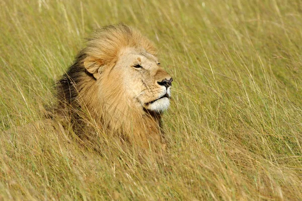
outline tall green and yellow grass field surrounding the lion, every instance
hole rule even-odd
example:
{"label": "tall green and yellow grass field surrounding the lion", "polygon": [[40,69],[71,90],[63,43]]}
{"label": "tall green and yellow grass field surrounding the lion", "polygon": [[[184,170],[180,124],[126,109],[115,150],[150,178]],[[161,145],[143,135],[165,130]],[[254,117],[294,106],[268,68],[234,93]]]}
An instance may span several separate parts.
{"label": "tall green and yellow grass field surrounding the lion", "polygon": [[[301,1],[5,0],[0,11],[0,200],[302,200]],[[84,38],[119,22],[155,41],[174,78],[163,155],[96,152],[42,120]]]}

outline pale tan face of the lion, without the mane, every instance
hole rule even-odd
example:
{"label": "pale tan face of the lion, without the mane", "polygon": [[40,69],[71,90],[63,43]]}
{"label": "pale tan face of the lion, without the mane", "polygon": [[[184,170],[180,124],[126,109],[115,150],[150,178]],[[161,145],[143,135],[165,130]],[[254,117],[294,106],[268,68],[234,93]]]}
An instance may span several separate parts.
{"label": "pale tan face of the lion, without the mane", "polygon": [[130,101],[147,110],[162,112],[170,105],[172,77],[158,59],[144,49],[125,48],[114,67]]}

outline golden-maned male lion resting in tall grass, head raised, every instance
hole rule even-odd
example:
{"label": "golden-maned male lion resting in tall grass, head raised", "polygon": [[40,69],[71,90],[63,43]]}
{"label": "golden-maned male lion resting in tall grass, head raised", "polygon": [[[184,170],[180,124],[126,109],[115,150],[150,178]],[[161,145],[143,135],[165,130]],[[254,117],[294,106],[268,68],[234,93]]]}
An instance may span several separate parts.
{"label": "golden-maned male lion resting in tall grass, head raised", "polygon": [[156,55],[154,43],[125,24],[95,31],[57,81],[58,113],[79,136],[95,125],[123,141],[162,141],[173,79]]}

